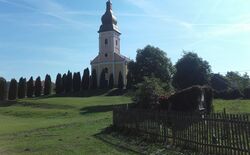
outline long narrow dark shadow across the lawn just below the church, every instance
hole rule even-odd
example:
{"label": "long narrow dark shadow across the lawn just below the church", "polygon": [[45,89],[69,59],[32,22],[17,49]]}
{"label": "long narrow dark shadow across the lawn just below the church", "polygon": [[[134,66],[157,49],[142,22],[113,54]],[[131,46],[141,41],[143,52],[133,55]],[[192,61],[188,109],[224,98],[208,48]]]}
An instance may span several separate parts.
{"label": "long narrow dark shadow across the lawn just below the church", "polygon": [[[127,105],[127,104],[120,104],[120,105]],[[80,114],[91,114],[91,113],[100,113],[100,112],[109,112],[114,109],[117,105],[96,105],[96,106],[90,106],[90,107],[84,107],[80,109]]]}

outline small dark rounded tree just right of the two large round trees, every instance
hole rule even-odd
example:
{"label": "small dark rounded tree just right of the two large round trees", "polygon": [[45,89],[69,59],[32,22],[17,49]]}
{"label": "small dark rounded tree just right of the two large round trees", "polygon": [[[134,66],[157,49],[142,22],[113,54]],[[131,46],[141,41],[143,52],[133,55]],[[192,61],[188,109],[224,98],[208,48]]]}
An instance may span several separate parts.
{"label": "small dark rounded tree just right of the two large round trees", "polygon": [[229,89],[230,82],[223,75],[212,74],[211,87],[216,91],[224,91],[224,90]]}

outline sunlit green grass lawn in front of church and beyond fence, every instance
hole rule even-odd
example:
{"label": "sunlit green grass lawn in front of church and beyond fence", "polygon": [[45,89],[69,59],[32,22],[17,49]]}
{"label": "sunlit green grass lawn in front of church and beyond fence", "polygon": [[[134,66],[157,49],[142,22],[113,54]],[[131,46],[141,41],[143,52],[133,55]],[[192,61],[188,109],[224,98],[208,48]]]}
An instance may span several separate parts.
{"label": "sunlit green grass lawn in front of church and beyond fence", "polygon": [[[137,154],[145,149],[124,137],[102,131],[112,124],[112,106],[130,103],[126,96],[25,99],[0,107],[0,154]],[[249,113],[250,101],[215,101],[215,112]],[[129,141],[129,142],[128,142]],[[134,145],[129,145],[134,144]],[[140,145],[145,145],[140,143]],[[160,150],[161,151],[161,150]],[[160,154],[178,154],[163,151]]]}

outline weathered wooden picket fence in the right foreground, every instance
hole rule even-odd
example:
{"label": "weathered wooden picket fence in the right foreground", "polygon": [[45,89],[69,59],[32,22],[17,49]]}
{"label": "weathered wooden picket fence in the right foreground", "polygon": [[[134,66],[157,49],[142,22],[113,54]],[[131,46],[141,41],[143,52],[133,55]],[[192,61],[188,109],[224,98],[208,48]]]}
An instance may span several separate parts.
{"label": "weathered wooden picket fence in the right foreground", "polygon": [[145,111],[116,107],[113,125],[150,140],[194,149],[203,154],[250,155],[250,115],[211,115]]}

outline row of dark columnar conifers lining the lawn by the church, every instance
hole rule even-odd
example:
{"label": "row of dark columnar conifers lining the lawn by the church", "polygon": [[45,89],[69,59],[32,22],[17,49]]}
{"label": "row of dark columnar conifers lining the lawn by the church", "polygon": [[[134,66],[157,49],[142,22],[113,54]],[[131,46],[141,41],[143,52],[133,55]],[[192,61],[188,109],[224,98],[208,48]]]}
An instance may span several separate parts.
{"label": "row of dark columnar conifers lining the lawn by the church", "polygon": [[[88,89],[98,89],[97,80],[99,80],[99,89],[113,89],[114,86],[114,76],[113,74],[109,75],[109,79],[106,80],[107,71],[104,69],[101,73],[100,79],[97,79],[96,70],[90,71],[86,68],[81,77],[80,72],[72,74],[68,71],[65,74],[57,74],[55,82],[55,93],[63,94],[70,92],[79,92],[82,90]],[[124,88],[124,81],[122,73],[119,73],[118,77],[118,86],[119,89]],[[19,82],[15,79],[12,79],[7,88],[7,82],[4,78],[0,78],[0,100],[15,100],[17,98],[22,99],[25,97],[40,97],[42,95],[50,95],[52,93],[52,82],[50,75],[46,75],[44,80],[44,85],[42,84],[41,77],[38,76],[36,80],[33,80],[31,77],[28,81],[25,78],[21,77]]]}

